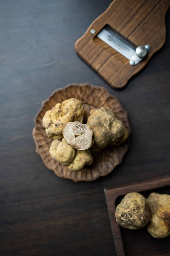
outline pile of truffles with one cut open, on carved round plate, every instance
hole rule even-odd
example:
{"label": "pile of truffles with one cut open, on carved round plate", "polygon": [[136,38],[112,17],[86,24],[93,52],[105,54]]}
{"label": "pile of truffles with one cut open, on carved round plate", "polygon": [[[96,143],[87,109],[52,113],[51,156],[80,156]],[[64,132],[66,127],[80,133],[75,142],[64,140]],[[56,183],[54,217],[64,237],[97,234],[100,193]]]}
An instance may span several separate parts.
{"label": "pile of truffles with one cut open, on carved round plate", "polygon": [[50,155],[73,172],[93,163],[91,153],[98,153],[107,145],[120,145],[128,139],[127,129],[110,108],[91,110],[87,119],[82,102],[75,98],[48,110],[42,125],[47,136],[54,139]]}

